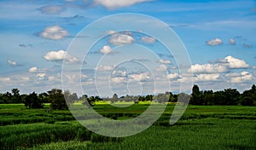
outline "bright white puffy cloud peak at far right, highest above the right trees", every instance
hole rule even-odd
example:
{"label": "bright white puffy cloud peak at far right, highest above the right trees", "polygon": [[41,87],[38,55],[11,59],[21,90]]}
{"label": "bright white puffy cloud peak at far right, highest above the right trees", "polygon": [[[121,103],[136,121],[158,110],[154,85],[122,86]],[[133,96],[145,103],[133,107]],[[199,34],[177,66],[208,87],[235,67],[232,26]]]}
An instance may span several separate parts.
{"label": "bright white puffy cloud peak at far right, highest above the right trees", "polygon": [[234,58],[231,55],[225,57],[225,60],[228,62],[228,66],[230,68],[247,68],[247,67],[249,67],[249,65],[245,61]]}

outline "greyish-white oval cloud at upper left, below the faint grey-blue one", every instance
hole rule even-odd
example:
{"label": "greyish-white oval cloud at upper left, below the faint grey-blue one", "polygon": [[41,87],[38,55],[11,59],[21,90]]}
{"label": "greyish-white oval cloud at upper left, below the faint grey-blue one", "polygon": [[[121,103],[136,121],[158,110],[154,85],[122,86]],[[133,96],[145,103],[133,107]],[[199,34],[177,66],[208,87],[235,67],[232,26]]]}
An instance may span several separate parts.
{"label": "greyish-white oval cloud at upper left, below the faint grey-blue one", "polygon": [[44,32],[39,34],[42,38],[48,39],[62,39],[69,36],[67,30],[63,29],[61,26],[49,26],[44,29]]}

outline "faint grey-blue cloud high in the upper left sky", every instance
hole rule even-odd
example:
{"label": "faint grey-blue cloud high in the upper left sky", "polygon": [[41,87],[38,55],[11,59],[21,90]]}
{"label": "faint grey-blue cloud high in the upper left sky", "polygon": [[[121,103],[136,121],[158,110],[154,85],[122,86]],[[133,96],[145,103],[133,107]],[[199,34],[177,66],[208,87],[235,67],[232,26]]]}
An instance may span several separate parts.
{"label": "faint grey-blue cloud high in the upper left sky", "polygon": [[65,10],[65,7],[62,5],[49,5],[43,6],[38,9],[42,14],[61,14]]}

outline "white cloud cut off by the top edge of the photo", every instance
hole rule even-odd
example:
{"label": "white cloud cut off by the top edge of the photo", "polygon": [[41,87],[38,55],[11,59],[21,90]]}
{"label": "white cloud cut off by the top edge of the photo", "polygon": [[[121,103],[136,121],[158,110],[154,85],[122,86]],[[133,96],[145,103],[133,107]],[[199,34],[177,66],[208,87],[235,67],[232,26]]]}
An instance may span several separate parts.
{"label": "white cloud cut off by the top edge of the photo", "polygon": [[118,1],[113,1],[113,0],[94,0],[96,4],[100,4],[107,9],[117,9],[117,8],[123,8],[127,6],[131,6],[136,3],[143,3],[143,2],[149,2],[152,0],[118,0]]}

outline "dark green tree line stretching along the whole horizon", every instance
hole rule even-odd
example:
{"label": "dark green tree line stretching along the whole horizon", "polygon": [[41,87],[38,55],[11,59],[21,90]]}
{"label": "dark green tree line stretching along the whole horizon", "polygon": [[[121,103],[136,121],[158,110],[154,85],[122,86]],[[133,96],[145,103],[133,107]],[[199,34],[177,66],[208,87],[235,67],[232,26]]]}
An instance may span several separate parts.
{"label": "dark green tree line stretching along the whole horizon", "polygon": [[118,96],[113,94],[112,97],[101,98],[99,96],[78,96],[76,93],[61,89],[51,89],[47,92],[37,94],[20,95],[19,89],[11,89],[11,92],[0,94],[0,103],[24,103],[27,108],[43,108],[44,103],[50,103],[52,109],[67,109],[68,105],[75,101],[83,101],[84,105],[93,107],[96,101],[132,101],[138,103],[140,101],[155,101],[155,102],[177,102],[179,95],[190,96],[189,104],[191,105],[226,105],[226,106],[256,106],[256,86],[253,84],[251,89],[240,93],[237,89],[224,89],[213,92],[212,90],[201,90],[198,85],[192,88],[192,94],[186,95],[172,94],[172,92],[160,93],[158,95],[125,95]]}

